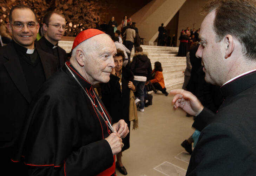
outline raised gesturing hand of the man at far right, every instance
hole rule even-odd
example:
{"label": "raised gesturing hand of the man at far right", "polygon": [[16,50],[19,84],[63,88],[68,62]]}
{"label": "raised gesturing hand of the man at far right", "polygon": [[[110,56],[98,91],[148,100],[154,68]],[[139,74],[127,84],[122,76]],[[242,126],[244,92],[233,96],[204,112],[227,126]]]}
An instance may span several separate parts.
{"label": "raised gesturing hand of the man at far right", "polygon": [[204,106],[191,92],[183,89],[173,89],[170,94],[175,96],[172,99],[172,104],[175,109],[182,108],[185,112],[197,116],[203,110]]}

